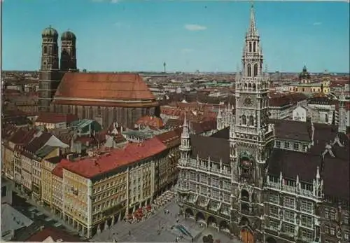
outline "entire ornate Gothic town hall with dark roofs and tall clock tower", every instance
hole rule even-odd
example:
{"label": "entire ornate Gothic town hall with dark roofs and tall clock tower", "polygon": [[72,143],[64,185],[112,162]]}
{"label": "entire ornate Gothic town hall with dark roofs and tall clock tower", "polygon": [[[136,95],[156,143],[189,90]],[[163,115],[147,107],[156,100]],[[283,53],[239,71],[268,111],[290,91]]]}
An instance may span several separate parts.
{"label": "entire ornate Gothic town hall with dark roofs and tall clock tower", "polygon": [[262,62],[252,6],[235,109],[219,111],[211,137],[183,124],[181,210],[244,242],[349,242],[345,119],[337,127],[269,120]]}

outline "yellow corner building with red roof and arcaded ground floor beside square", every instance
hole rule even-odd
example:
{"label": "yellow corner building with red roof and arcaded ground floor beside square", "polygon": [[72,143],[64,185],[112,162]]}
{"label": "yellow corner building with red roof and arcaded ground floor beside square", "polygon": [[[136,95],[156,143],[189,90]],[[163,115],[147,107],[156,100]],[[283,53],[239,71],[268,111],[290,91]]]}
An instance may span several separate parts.
{"label": "yellow corner building with red roof and arcaded ground floor beside square", "polygon": [[[128,144],[110,153],[61,160],[64,221],[85,237],[92,237],[124,218],[125,214],[150,204],[154,156],[166,148],[153,138],[141,144]],[[56,167],[52,174],[59,177],[57,171]],[[55,190],[52,198],[58,198],[58,190],[52,190]]]}

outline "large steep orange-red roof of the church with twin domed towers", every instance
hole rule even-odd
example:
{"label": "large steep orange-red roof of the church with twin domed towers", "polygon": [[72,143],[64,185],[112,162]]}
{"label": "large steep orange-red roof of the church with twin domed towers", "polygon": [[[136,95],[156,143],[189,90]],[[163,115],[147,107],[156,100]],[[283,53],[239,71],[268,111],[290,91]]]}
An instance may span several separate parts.
{"label": "large steep orange-red roof of the church with twin domed towers", "polygon": [[57,98],[145,100],[155,99],[139,74],[66,73]]}

